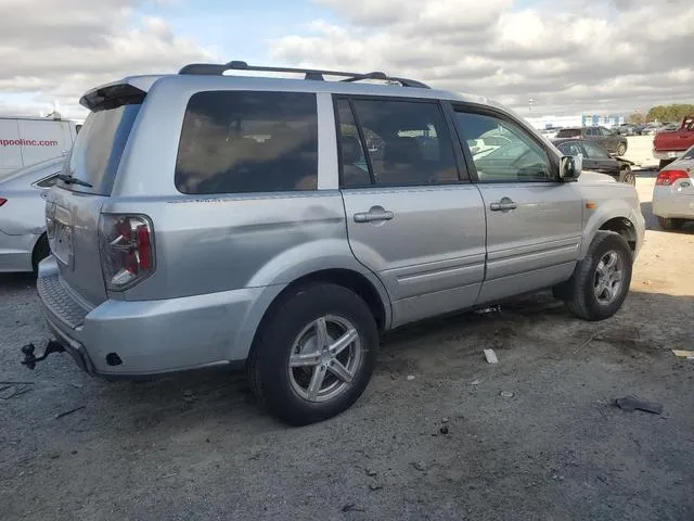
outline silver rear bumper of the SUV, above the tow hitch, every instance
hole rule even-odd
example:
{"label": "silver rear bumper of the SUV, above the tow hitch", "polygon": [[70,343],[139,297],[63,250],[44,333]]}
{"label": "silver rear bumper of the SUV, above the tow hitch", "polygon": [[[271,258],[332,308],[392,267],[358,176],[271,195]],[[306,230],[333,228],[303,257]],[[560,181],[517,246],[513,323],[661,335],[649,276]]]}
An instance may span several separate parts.
{"label": "silver rear bumper of the SUV, above the tow hitch", "polygon": [[80,316],[75,306],[81,305],[70,297],[53,257],[40,264],[37,287],[55,340],[85,371],[110,378],[243,361],[257,326],[249,314],[267,290],[252,288],[165,301],[107,300],[93,309],[82,307]]}

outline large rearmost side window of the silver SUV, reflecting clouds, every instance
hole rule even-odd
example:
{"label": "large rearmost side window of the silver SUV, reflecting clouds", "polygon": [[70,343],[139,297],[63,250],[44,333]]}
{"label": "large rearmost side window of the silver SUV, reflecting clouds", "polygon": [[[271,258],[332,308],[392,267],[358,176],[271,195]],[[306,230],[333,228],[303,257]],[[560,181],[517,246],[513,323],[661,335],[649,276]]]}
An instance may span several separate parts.
{"label": "large rearmost side window of the silver SUV, reflecting clouds", "polygon": [[316,94],[193,94],[183,117],[175,178],[178,190],[190,194],[316,190]]}

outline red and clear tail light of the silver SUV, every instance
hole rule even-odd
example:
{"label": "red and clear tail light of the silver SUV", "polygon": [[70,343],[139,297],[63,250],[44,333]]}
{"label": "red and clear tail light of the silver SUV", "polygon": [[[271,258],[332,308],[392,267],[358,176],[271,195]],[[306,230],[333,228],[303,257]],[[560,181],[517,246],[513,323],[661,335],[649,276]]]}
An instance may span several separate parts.
{"label": "red and clear tail light of the silver SUV", "polygon": [[154,271],[152,221],[144,215],[102,214],[99,250],[106,288],[132,288]]}

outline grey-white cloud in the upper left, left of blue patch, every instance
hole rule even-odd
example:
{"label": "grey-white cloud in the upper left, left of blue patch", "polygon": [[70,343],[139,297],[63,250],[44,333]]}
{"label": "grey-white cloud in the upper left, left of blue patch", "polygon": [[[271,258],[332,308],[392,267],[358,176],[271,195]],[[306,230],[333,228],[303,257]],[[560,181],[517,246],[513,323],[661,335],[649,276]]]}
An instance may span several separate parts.
{"label": "grey-white cloud in the upper left, left of blue patch", "polygon": [[[175,1],[175,0],[157,0]],[[166,73],[210,52],[177,36],[160,18],[139,14],[137,0],[2,0],[0,94],[31,93],[38,110],[59,101],[83,115],[88,89],[131,74]],[[26,111],[0,105],[0,111]]]}

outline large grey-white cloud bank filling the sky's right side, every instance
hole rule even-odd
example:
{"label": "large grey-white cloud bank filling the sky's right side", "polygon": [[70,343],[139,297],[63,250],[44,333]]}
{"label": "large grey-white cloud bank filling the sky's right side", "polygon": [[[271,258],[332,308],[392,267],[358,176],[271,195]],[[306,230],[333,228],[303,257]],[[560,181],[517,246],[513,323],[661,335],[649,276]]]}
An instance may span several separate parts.
{"label": "large grey-white cloud bank filling the sky's right side", "polygon": [[332,23],[271,42],[295,65],[386,71],[527,111],[694,101],[689,0],[314,0]]}

